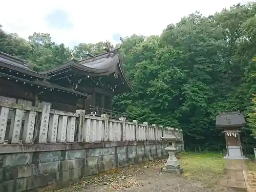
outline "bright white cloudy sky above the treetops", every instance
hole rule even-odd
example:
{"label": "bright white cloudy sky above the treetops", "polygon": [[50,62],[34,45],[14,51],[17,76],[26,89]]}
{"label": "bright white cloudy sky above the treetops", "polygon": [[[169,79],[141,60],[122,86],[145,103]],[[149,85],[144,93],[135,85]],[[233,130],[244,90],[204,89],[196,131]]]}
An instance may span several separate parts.
{"label": "bright white cloudy sky above the treetops", "polygon": [[79,42],[111,41],[135,34],[159,35],[168,24],[200,11],[214,14],[249,0],[8,0],[1,2],[0,24],[27,38],[50,33],[53,41],[73,47]]}

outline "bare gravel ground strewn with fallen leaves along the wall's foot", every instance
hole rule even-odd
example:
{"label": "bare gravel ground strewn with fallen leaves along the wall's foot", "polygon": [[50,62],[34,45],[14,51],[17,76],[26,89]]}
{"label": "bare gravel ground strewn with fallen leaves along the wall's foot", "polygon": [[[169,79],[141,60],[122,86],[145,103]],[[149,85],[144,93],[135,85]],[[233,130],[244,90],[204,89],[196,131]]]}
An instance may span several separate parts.
{"label": "bare gravel ground strewn with fallen leaves along the wall's foot", "polygon": [[150,164],[136,168],[119,170],[118,173],[97,176],[81,181],[76,185],[54,190],[56,192],[98,192],[98,191],[138,191],[138,192],[234,192],[234,190],[220,186],[206,187],[204,184],[187,180],[181,175],[162,173],[160,167],[162,161],[154,161]]}

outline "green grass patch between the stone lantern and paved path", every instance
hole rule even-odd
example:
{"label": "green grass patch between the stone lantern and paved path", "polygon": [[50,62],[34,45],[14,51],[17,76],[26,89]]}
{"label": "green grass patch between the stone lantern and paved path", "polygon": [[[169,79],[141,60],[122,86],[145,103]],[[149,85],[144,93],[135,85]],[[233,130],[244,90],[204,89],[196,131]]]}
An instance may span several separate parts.
{"label": "green grass patch between the stone lantern and paved path", "polygon": [[220,153],[181,153],[179,163],[187,179],[196,179],[208,185],[217,184],[224,174],[225,161]]}

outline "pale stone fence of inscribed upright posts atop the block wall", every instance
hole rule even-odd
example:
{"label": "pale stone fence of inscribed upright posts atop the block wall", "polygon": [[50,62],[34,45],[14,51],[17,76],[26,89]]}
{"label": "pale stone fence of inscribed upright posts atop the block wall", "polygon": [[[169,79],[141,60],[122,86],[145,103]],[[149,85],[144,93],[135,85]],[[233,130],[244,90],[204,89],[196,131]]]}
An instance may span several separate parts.
{"label": "pale stone fence of inscribed upright posts atop the block wall", "polygon": [[[175,134],[183,141],[182,130],[175,129]],[[46,102],[38,107],[0,102],[0,143],[160,141],[164,135],[161,125],[129,122],[126,117],[56,111]]]}

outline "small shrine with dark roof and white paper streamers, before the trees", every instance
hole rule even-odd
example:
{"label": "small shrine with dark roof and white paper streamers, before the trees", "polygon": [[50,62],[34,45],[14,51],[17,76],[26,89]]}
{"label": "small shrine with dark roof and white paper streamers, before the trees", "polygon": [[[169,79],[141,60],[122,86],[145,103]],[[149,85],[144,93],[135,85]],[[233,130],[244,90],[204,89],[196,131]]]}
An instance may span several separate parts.
{"label": "small shrine with dark roof and white paper streamers, before the trees", "polygon": [[216,117],[216,126],[224,129],[227,154],[224,159],[247,159],[243,155],[239,129],[245,125],[244,115],[237,112],[220,113]]}

